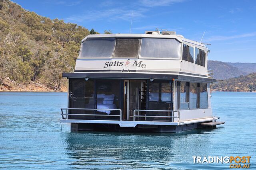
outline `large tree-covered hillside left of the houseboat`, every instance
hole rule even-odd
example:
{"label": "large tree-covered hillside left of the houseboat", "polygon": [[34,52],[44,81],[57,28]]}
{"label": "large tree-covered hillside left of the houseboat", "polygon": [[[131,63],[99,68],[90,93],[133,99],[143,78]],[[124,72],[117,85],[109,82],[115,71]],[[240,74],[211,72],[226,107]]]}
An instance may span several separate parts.
{"label": "large tree-covered hillside left of the houseboat", "polygon": [[74,23],[50,20],[0,0],[0,87],[65,88],[62,72],[74,69],[80,42],[89,33]]}

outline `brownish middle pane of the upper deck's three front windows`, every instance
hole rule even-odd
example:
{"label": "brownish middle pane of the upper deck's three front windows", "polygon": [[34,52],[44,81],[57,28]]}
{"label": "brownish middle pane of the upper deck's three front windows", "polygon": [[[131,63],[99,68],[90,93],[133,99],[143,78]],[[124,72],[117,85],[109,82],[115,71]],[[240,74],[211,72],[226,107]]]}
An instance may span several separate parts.
{"label": "brownish middle pane of the upper deck's three front windows", "polygon": [[113,58],[138,58],[140,41],[138,38],[117,38]]}

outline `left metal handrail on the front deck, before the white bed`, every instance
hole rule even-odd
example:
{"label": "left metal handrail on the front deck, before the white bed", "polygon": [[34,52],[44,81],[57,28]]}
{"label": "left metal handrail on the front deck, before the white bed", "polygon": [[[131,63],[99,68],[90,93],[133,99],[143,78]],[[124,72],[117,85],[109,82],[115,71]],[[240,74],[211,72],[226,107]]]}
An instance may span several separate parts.
{"label": "left metal handrail on the front deck, before the white bed", "polygon": [[[63,113],[63,110],[65,110],[65,113]],[[69,114],[67,113],[67,110],[118,110],[120,111],[120,115],[97,115],[97,114]],[[62,119],[64,119],[64,116],[63,115],[66,115],[66,119],[68,117],[68,115],[79,115],[79,116],[118,116],[120,117],[120,121],[122,120],[122,110],[121,109],[84,109],[84,108],[61,108],[61,114],[62,115]]]}

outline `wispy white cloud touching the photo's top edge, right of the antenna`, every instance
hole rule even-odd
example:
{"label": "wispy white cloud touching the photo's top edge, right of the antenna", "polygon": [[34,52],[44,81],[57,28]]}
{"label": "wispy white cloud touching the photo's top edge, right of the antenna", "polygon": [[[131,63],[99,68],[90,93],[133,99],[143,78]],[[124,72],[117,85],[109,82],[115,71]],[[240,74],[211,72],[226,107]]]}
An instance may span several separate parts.
{"label": "wispy white cloud touching the photo's top edge, right of the antenna", "polygon": [[184,2],[184,0],[141,0],[140,1],[141,5],[147,6],[147,7],[169,6],[179,2]]}

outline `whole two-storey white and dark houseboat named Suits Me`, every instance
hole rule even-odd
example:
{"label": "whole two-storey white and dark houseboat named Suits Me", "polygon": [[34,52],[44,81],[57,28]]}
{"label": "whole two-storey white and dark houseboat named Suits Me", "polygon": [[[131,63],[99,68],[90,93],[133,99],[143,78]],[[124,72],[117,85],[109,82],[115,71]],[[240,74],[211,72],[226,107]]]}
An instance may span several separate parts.
{"label": "whole two-storey white and dark houseboat named Suits Me", "polygon": [[180,132],[216,127],[207,47],[175,31],[82,40],[62,123],[71,131]]}

